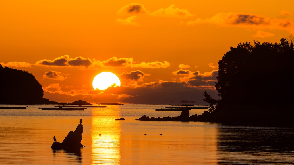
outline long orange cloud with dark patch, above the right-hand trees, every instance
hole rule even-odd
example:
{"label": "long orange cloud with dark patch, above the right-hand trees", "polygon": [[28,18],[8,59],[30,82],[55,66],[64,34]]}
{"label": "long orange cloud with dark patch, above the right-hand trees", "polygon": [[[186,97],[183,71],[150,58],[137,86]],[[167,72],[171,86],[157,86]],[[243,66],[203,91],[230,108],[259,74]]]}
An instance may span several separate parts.
{"label": "long orange cloud with dark patch, above the right-hand trees", "polygon": [[207,19],[198,18],[189,21],[188,25],[215,24],[226,27],[253,28],[253,29],[280,29],[294,32],[294,23],[290,19],[268,18],[255,14],[218,13]]}

